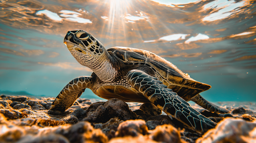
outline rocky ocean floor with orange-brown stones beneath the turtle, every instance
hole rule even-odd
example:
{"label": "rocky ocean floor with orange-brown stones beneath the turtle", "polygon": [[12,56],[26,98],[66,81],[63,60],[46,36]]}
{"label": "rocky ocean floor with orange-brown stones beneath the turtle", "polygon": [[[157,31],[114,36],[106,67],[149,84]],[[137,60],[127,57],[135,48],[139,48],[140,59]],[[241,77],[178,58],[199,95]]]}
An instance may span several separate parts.
{"label": "rocky ocean floor with orange-brown stones beneath the turtle", "polygon": [[0,96],[0,143],[256,143],[256,103],[216,102],[230,114],[193,108],[218,125],[206,133],[170,119],[153,104],[78,98],[66,112],[55,98]]}

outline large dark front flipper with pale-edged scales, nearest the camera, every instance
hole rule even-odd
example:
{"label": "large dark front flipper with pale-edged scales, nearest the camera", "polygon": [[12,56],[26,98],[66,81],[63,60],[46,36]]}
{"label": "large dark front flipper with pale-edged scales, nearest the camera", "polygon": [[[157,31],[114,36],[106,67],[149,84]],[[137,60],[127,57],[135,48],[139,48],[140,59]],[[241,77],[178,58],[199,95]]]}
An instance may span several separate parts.
{"label": "large dark front flipper with pale-edged scales, nearest the camera", "polygon": [[205,132],[216,126],[214,121],[194,110],[184,99],[146,72],[131,70],[126,77],[134,89],[142,93],[170,118],[176,118],[197,131]]}

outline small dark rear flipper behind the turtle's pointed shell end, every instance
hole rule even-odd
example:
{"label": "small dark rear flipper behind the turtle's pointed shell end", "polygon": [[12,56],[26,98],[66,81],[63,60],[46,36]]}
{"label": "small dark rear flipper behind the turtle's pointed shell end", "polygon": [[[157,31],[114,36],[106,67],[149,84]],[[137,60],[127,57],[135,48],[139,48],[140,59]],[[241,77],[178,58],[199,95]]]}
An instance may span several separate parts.
{"label": "small dark rear flipper behind the turtle's pointed shell end", "polygon": [[218,113],[219,114],[229,113],[228,110],[226,110],[224,108],[220,108],[220,107],[216,106],[215,104],[212,104],[212,103],[208,102],[200,94],[197,94],[196,96],[191,98],[191,101],[195,102],[196,104],[198,104],[202,108],[205,108],[205,109],[207,109],[207,110],[209,110],[210,112],[213,112],[213,113],[217,113],[217,114]]}

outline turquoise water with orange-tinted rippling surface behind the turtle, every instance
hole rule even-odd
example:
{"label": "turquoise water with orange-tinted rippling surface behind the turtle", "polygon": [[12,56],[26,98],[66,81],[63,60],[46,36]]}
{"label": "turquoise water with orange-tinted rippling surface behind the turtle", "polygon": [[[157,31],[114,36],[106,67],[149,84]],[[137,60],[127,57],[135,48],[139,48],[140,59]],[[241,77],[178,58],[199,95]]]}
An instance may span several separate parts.
{"label": "turquoise water with orange-tinted rippling surface behind the turtle", "polygon": [[[253,0],[18,0],[0,2],[0,94],[56,97],[90,75],[63,44],[83,29],[108,49],[145,49],[210,84],[216,101],[256,101]],[[90,90],[84,98],[96,98]]]}

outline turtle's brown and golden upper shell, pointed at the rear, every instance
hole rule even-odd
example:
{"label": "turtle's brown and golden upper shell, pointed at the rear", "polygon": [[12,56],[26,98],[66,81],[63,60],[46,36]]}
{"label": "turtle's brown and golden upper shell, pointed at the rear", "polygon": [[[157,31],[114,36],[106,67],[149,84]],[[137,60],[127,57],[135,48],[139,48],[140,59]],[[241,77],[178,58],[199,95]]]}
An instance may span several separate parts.
{"label": "turtle's brown and golden upper shell, pointed at the rear", "polygon": [[149,51],[129,47],[112,47],[107,51],[116,54],[126,64],[150,67],[163,84],[186,101],[211,88],[208,84],[190,78],[166,59]]}

